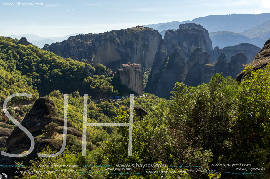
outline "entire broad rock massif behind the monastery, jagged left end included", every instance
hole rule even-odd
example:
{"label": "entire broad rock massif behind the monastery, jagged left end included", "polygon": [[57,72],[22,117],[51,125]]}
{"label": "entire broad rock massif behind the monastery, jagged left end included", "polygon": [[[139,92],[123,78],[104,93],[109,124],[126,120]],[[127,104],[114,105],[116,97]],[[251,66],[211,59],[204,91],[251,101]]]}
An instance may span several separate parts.
{"label": "entire broad rock massif behind the monastery, jagged left end included", "polygon": [[98,35],[77,35],[60,43],[46,44],[43,49],[81,62],[101,63],[117,71],[128,62],[151,68],[160,40],[158,31],[137,26]]}

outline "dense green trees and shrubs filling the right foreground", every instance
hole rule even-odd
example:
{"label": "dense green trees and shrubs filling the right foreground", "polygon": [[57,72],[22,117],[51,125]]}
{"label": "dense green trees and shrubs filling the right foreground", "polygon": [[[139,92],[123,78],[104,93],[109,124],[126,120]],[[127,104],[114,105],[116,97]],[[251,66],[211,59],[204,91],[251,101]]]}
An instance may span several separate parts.
{"label": "dense green trees and shrubs filling the right foreground", "polygon": [[[134,117],[132,157],[127,157],[128,127],[117,127],[99,147],[88,150],[86,157],[69,151],[59,156],[59,161],[69,158],[66,161],[78,165],[76,169],[89,173],[63,172],[55,177],[50,174],[24,175],[23,178],[64,178],[64,175],[68,174],[75,178],[269,178],[270,65],[264,71],[259,69],[251,72],[249,66],[245,71],[248,75],[241,84],[231,77],[225,79],[221,74],[217,74],[211,78],[209,84],[204,83],[198,87],[186,87],[183,83],[176,83],[172,92],[173,98],[169,103],[161,100],[155,105],[154,99],[149,101],[146,106],[153,103],[153,106],[149,107],[152,113],[143,119]],[[150,100],[150,96],[143,100]],[[143,105],[140,99],[136,98],[137,102]],[[128,100],[125,100],[120,103],[127,107],[127,102]],[[105,113],[103,109],[110,106],[107,103],[90,107],[93,105],[90,102],[88,113],[90,108],[96,107]],[[108,115],[115,115],[113,110],[108,111]],[[120,108],[114,121],[127,123],[129,115]],[[87,130],[90,130],[90,127]],[[55,158],[40,160],[41,163],[59,163]],[[134,167],[131,171],[125,168],[114,170],[102,166],[83,166],[110,165],[109,168],[116,168],[116,164],[135,163],[167,166]],[[262,175],[232,175],[232,172],[250,171],[236,170],[237,167],[211,166],[224,163],[251,164],[249,168],[265,169],[253,171],[262,172]],[[230,174],[192,172],[189,167],[168,167],[169,165],[199,165],[201,170],[228,171]],[[32,166],[26,170],[30,169],[38,170],[37,162],[33,161]],[[148,171],[187,173],[146,174]],[[112,175],[110,172],[136,172],[140,175]]]}

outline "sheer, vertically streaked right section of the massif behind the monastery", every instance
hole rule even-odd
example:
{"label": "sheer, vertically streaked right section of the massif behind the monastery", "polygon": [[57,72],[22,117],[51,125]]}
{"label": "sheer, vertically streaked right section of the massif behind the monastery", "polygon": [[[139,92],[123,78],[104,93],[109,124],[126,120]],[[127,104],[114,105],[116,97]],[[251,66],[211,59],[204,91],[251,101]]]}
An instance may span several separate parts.
{"label": "sheer, vertically streaked right section of the massif behind the monastery", "polygon": [[96,56],[93,63],[104,64],[114,71],[128,62],[151,68],[160,40],[158,31],[140,26],[100,33],[95,38]]}

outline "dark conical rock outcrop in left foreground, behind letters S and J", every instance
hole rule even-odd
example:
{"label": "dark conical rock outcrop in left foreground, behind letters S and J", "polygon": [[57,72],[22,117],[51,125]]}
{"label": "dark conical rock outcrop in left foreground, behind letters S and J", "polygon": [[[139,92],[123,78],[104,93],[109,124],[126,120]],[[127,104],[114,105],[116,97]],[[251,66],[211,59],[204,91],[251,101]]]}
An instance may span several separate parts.
{"label": "dark conical rock outcrop in left foreground, behind letters S and J", "polygon": [[[21,125],[31,132],[35,139],[34,150],[29,156],[37,156],[37,152],[41,152],[42,149],[45,148],[45,145],[49,145],[54,150],[61,148],[61,140],[38,137],[41,134],[41,129],[44,129],[50,122],[58,124],[57,132],[63,134],[64,119],[57,114],[54,102],[45,97],[37,99],[32,109],[26,114],[21,123]],[[82,137],[82,134],[77,131],[70,122],[67,122],[67,134]],[[21,149],[28,150],[30,145],[29,137],[19,129],[19,127],[15,127],[6,141],[8,153]]]}

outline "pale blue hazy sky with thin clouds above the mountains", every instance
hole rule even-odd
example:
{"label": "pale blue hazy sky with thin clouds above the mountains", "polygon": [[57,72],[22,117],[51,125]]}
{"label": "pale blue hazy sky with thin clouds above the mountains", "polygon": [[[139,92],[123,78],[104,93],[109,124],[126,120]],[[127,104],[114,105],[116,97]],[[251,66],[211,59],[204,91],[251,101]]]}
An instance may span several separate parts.
{"label": "pale blue hazy sky with thin clouds above the mountains", "polygon": [[[4,3],[21,3],[4,5]],[[22,3],[43,3],[24,6]],[[219,14],[270,13],[270,0],[1,0],[0,35],[100,33]]]}

